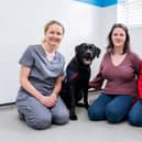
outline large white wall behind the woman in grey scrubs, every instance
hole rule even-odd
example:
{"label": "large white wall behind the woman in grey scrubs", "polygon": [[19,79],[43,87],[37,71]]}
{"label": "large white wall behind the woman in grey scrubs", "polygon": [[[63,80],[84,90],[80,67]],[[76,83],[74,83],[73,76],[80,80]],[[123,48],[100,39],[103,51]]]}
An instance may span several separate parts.
{"label": "large white wall behind the woman in grey scrubs", "polygon": [[55,19],[64,24],[66,32],[59,51],[68,62],[75,45],[81,42],[99,45],[99,13],[100,8],[74,0],[1,0],[0,103],[15,100],[19,58],[28,45],[41,43],[47,21]]}

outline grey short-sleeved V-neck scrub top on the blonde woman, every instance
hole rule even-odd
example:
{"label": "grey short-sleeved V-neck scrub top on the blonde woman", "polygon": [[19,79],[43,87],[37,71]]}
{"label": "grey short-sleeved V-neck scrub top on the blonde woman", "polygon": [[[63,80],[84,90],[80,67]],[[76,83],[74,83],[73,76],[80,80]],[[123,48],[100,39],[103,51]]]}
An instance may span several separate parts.
{"label": "grey short-sleeved V-neck scrub top on the blonde woman", "polygon": [[[53,61],[50,62],[40,44],[29,46],[19,63],[31,68],[29,76],[31,84],[45,96],[51,95],[56,78],[64,74],[64,56],[56,52]],[[23,91],[22,88],[20,90]]]}

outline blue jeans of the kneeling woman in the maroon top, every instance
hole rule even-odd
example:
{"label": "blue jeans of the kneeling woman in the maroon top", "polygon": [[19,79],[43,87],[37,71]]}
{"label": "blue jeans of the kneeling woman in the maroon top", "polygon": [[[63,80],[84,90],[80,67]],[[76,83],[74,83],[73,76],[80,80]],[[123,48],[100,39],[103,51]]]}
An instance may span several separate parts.
{"label": "blue jeans of the kneeling woman in the maroon top", "polygon": [[118,123],[128,117],[134,97],[130,95],[106,95],[101,94],[88,108],[90,120],[108,120]]}

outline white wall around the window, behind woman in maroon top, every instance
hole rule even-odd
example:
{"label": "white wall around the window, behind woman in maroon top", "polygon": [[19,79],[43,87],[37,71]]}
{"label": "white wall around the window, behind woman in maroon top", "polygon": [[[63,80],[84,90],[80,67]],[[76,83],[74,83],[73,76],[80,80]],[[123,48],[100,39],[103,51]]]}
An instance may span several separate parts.
{"label": "white wall around the window, behind woman in maroon top", "polygon": [[[98,66],[101,61],[103,53],[106,52],[107,46],[107,36],[110,32],[111,26],[117,22],[117,4],[101,8],[99,11],[99,26],[97,32],[99,33],[99,46],[102,48],[101,56],[96,66],[92,65],[92,76],[95,76],[98,72]],[[129,28],[131,48],[142,58],[142,26]],[[91,77],[92,77],[91,76]]]}

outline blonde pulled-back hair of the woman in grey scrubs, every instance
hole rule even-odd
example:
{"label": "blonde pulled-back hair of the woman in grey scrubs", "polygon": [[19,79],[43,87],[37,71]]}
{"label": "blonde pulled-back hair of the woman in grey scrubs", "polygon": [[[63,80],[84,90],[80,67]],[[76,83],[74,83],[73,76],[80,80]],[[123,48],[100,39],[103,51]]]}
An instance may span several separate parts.
{"label": "blonde pulled-back hair of the woman in grey scrubs", "polygon": [[[63,34],[65,33],[65,29],[64,29],[63,24],[61,22],[56,21],[56,20],[52,20],[52,21],[50,21],[48,23],[45,24],[45,26],[44,26],[44,34],[47,32],[50,26],[53,25],[53,24],[59,25],[62,28],[62,30],[63,30]],[[45,42],[46,42],[45,39],[43,39],[42,43],[45,43]]]}

